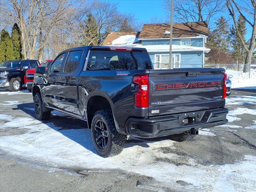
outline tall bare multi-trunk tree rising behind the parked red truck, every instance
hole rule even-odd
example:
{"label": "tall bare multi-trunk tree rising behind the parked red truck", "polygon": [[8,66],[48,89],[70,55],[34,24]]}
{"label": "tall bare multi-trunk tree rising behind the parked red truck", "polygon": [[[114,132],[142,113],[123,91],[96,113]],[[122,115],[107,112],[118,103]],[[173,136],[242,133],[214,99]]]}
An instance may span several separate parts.
{"label": "tall bare multi-trunk tree rising behind the parked red truck", "polygon": [[68,15],[72,4],[68,0],[10,0],[9,12],[20,25],[25,59],[42,60],[52,28]]}

